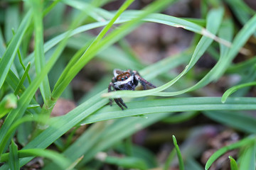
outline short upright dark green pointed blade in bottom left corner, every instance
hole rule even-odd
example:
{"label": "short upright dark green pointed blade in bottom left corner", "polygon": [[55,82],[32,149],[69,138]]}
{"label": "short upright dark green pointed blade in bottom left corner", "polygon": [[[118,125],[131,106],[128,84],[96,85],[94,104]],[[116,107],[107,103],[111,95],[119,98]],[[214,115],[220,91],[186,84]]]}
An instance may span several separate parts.
{"label": "short upright dark green pointed blade in bottom left corner", "polygon": [[19,167],[19,161],[18,161],[18,146],[14,142],[14,140],[11,140],[11,145],[9,147],[9,167],[11,170],[18,170]]}

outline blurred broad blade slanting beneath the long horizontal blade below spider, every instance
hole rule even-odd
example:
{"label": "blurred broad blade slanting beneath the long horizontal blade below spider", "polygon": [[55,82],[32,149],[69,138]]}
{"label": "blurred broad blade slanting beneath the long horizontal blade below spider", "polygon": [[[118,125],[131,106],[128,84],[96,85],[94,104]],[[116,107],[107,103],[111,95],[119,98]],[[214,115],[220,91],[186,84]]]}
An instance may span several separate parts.
{"label": "blurred broad blade slanting beneath the long horizontal blade below spider", "polygon": [[[169,113],[163,113],[163,114],[152,114],[148,119],[145,118],[123,118],[114,120],[114,123],[107,123],[108,126],[105,128],[105,130],[102,133],[97,133],[95,131],[93,135],[96,135],[100,137],[100,140],[98,142],[90,142],[85,138],[85,135],[83,135],[77,142],[75,142],[72,146],[70,146],[64,154],[67,157],[70,157],[70,159],[75,159],[76,157],[79,157],[82,154],[85,154],[84,159],[82,159],[81,163],[86,163],[90,161],[97,152],[103,151],[107,149],[108,147],[111,147],[112,145],[116,144],[117,141],[123,140],[125,137],[129,137],[134,132],[137,132],[138,130],[141,130],[142,128],[145,128],[148,125],[151,125],[152,123],[156,122],[157,120],[161,120],[163,118],[166,118],[166,116],[169,115]],[[82,143],[87,143],[87,145],[92,145],[89,149],[85,147],[80,147]],[[76,154],[70,154],[72,153],[73,149],[80,148],[80,152]]]}

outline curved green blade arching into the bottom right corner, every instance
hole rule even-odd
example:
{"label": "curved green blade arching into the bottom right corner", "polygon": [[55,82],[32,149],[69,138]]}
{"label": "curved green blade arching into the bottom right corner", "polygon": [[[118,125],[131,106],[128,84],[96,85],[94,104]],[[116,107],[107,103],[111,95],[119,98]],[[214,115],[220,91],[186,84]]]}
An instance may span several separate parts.
{"label": "curved green blade arching into the bottom right corner", "polygon": [[245,137],[244,139],[242,139],[238,142],[235,142],[231,145],[228,145],[226,147],[222,147],[222,148],[218,149],[218,151],[216,151],[214,154],[212,154],[210,156],[210,158],[208,159],[208,161],[206,162],[205,169],[208,170],[210,168],[211,164],[213,164],[213,162],[215,162],[215,160],[218,159],[218,157],[225,154],[225,152],[228,152],[229,150],[237,149],[239,147],[252,145],[253,143],[255,143],[255,140],[256,140],[255,136],[252,135],[249,137]]}

